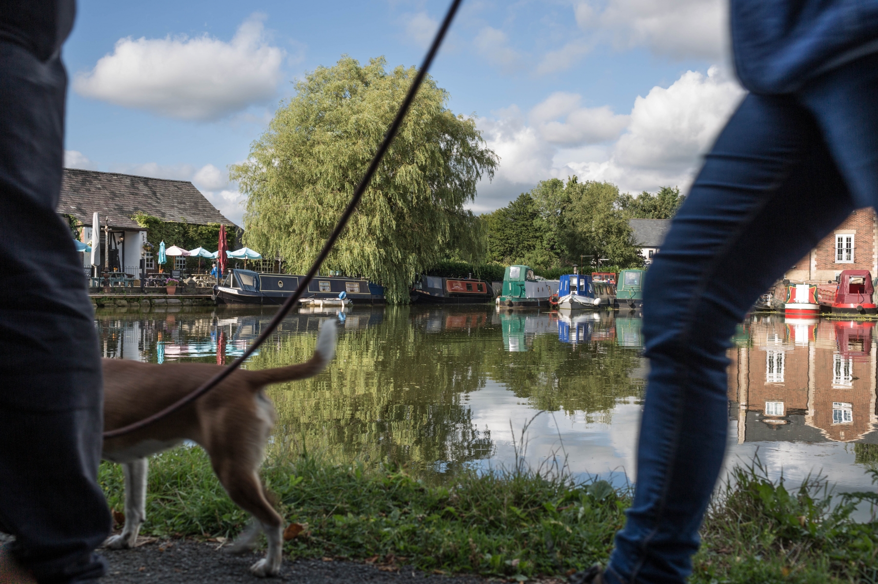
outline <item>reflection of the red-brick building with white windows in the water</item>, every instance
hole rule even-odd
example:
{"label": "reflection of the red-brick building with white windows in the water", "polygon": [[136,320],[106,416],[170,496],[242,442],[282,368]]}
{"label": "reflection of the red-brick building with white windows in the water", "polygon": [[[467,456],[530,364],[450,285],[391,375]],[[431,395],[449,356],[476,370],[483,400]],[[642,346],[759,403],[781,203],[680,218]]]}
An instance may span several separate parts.
{"label": "reflection of the red-brick building with white windows in the water", "polygon": [[874,323],[788,324],[757,317],[730,349],[730,417],[738,442],[878,444]]}

